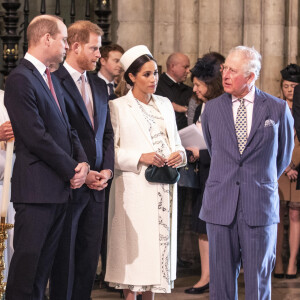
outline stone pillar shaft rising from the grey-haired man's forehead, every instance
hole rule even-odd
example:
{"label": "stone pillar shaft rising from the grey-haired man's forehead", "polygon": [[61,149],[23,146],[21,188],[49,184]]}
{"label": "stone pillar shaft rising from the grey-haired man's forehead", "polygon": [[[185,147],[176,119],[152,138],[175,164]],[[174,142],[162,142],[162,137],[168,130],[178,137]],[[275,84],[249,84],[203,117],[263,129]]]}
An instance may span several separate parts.
{"label": "stone pillar shaft rising from the grey-haired man's forehead", "polygon": [[243,2],[241,0],[220,1],[220,51],[225,56],[231,48],[243,43]]}

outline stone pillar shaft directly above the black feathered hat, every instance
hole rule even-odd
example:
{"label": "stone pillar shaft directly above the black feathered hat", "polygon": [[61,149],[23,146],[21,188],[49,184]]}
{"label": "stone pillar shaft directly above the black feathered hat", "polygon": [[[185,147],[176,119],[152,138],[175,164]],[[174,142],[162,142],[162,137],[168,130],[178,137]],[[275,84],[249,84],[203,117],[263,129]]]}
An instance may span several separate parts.
{"label": "stone pillar shaft directly above the black feathered hat", "polygon": [[220,18],[222,0],[199,1],[198,56],[209,51],[221,52],[220,49]]}

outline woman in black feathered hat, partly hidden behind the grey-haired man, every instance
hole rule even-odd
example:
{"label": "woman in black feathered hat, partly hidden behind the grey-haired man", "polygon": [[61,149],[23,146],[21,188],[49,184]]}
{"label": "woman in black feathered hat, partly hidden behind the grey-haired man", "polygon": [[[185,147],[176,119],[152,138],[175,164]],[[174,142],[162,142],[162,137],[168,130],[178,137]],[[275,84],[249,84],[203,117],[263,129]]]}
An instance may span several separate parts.
{"label": "woman in black feathered hat, partly hidden behind the grey-haired man", "polygon": [[[205,103],[213,98],[220,96],[224,91],[222,87],[221,64],[224,57],[219,53],[208,53],[203,58],[198,59],[196,65],[191,70],[194,92],[201,103],[195,110],[194,122],[201,128],[201,114]],[[192,230],[198,234],[201,277],[199,281],[191,288],[186,289],[187,294],[201,294],[209,289],[209,247],[206,232],[206,223],[199,219],[199,213],[202,206],[202,197],[205,182],[208,177],[210,167],[210,156],[208,150],[198,150],[187,148],[192,151],[191,162],[199,160],[200,190],[198,190],[197,199],[192,212]]]}

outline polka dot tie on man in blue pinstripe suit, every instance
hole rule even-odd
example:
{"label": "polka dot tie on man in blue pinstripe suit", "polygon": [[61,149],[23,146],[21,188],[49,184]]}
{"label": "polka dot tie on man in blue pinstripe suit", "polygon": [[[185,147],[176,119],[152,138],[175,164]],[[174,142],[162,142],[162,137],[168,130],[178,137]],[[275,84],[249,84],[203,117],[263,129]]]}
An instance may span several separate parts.
{"label": "polka dot tie on man in blue pinstripe suit", "polygon": [[239,99],[239,101],[240,106],[236,115],[235,132],[239,151],[242,155],[247,143],[247,111],[245,107],[245,99]]}

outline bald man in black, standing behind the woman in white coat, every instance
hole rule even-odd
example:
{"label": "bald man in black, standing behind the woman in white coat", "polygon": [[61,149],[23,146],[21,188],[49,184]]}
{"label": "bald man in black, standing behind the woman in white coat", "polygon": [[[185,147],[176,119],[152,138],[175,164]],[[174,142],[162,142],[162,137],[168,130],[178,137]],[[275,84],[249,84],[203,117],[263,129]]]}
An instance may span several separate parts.
{"label": "bald man in black, standing behind the woman in white coat", "polygon": [[[193,89],[190,86],[183,83],[190,72],[190,60],[185,54],[176,52],[168,57],[166,65],[167,72],[163,73],[159,77],[155,94],[170,99],[175,111],[177,128],[178,130],[180,130],[188,125],[187,109],[189,100],[191,99],[193,94]],[[179,247],[182,217],[188,190],[188,188],[178,186],[178,267],[191,266],[190,262],[181,259],[181,249]]]}

